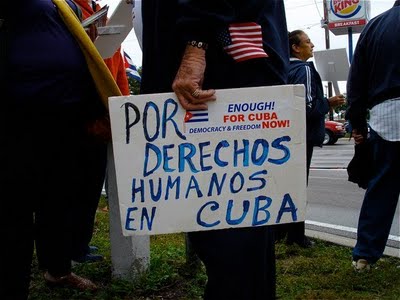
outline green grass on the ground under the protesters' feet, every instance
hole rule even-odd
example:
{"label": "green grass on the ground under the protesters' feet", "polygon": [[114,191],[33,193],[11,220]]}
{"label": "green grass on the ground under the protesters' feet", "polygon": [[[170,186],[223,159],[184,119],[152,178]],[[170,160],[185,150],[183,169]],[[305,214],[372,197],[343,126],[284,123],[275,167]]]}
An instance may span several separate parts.
{"label": "green grass on the ground under the protesters' feet", "polygon": [[[100,207],[104,206],[104,200]],[[201,299],[207,277],[204,268],[186,264],[183,234],[151,237],[148,272],[134,282],[111,278],[108,213],[98,211],[93,245],[105,260],[79,264],[74,272],[92,279],[100,289],[81,292],[49,288],[34,262],[30,299]],[[316,241],[302,249],[276,245],[277,294],[279,299],[396,299],[400,300],[400,259],[384,257],[368,273],[355,273],[350,266],[351,249]]]}

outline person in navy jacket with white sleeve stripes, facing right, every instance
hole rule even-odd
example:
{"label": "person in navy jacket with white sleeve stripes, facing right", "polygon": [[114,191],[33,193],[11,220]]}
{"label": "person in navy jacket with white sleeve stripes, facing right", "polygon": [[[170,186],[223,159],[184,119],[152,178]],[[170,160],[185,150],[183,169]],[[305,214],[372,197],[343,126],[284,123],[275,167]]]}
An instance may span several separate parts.
{"label": "person in navy jacket with white sleeve stripes, facing right", "polygon": [[[307,182],[314,146],[322,146],[325,136],[325,115],[330,108],[345,103],[343,95],[324,96],[322,81],[312,62],[307,60],[313,57],[314,44],[302,30],[289,33],[290,68],[288,83],[304,84],[306,100],[307,126]],[[301,247],[311,247],[312,242],[305,236],[304,222],[283,225],[287,228],[287,243],[296,243]],[[282,233],[281,233],[282,234]]]}

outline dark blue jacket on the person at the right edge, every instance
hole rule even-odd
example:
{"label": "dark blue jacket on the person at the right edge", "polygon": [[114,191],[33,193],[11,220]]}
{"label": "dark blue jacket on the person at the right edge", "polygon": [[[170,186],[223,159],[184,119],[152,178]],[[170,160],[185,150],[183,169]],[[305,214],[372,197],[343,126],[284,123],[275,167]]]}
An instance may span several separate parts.
{"label": "dark blue jacket on the person at the right edge", "polygon": [[358,39],[347,81],[346,118],[354,129],[367,127],[367,109],[400,97],[400,6],[372,19]]}

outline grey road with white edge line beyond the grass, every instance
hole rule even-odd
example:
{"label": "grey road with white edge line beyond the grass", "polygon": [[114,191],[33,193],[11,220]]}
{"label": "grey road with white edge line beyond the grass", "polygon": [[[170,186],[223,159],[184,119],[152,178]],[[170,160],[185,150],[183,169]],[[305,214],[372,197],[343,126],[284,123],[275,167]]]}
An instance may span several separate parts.
{"label": "grey road with white edge line beyond the grass", "polygon": [[[365,190],[347,181],[346,167],[354,142],[339,139],[335,145],[314,148],[311,161],[306,234],[353,247]],[[385,254],[400,257],[400,201]]]}

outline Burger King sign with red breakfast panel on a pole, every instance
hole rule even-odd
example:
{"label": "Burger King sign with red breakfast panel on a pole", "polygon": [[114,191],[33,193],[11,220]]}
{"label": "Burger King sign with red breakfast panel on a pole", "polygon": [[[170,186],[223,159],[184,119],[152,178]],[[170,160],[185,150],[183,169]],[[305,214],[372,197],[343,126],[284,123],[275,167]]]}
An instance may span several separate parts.
{"label": "Burger King sign with red breakfast panel on a pole", "polygon": [[361,32],[367,23],[370,1],[366,0],[325,0],[328,8],[328,27],[336,35],[346,34],[347,28]]}

